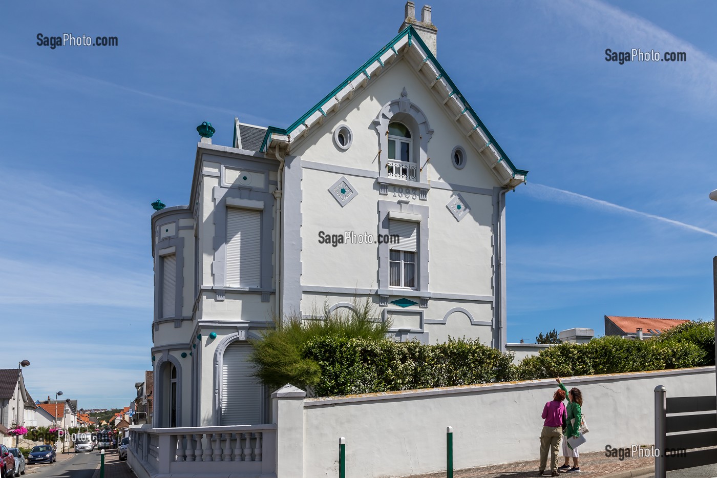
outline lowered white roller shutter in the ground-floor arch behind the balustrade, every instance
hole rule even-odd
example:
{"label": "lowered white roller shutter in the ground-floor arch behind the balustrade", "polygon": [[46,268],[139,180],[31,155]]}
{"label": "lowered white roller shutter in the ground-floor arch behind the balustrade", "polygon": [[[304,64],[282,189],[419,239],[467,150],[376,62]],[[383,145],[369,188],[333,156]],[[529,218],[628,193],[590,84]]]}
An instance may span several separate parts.
{"label": "lowered white roller shutter in the ground-floor arch behind the balustrade", "polygon": [[234,342],[222,359],[222,425],[257,425],[261,420],[262,388],[251,376],[252,346]]}

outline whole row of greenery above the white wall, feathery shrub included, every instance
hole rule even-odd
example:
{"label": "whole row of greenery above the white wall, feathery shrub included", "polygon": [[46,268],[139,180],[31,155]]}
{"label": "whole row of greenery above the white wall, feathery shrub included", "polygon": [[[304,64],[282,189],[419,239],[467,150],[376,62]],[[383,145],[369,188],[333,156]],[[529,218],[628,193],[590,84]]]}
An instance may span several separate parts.
{"label": "whole row of greenery above the white wall, feathery shrub included", "polygon": [[[353,395],[571,375],[642,372],[714,364],[714,323],[691,322],[647,340],[600,337],[564,343],[512,365],[478,340],[394,342],[386,325],[324,313],[326,321],[290,321],[255,341],[257,376],[274,388],[313,386],[315,395]],[[323,324],[322,324],[323,322]]]}

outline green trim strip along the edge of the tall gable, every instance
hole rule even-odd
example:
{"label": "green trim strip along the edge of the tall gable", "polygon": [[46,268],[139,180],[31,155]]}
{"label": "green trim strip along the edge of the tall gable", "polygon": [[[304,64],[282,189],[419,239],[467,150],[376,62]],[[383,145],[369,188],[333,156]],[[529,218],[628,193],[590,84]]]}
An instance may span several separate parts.
{"label": "green trim strip along the edge of the tall gable", "polygon": [[[366,61],[364,63],[364,65],[361,65],[361,67],[359,67],[356,71],[351,73],[351,75],[349,75],[348,78],[346,78],[346,80],[343,80],[343,82],[341,82],[340,85],[338,85],[336,88],[331,90],[331,93],[328,93],[328,95],[324,96],[318,103],[316,103],[313,106],[313,108],[311,108],[309,111],[304,113],[303,116],[301,116],[298,120],[294,121],[294,123],[292,123],[288,128],[284,129],[284,128],[277,128],[276,126],[269,126],[267,128],[267,132],[264,136],[264,141],[262,141],[262,146],[260,147],[260,151],[264,151],[267,144],[270,143],[272,134],[276,133],[276,134],[282,134],[282,135],[288,136],[292,131],[294,131],[296,128],[298,128],[298,126],[300,126],[304,121],[306,121],[306,119],[309,116],[313,115],[313,113],[315,113],[316,111],[320,111],[321,113],[323,113],[323,111],[321,111],[321,109],[320,109],[321,106],[323,106],[323,104],[326,103],[326,101],[328,101],[329,99],[336,96],[339,91],[341,91],[346,85],[348,85],[348,83],[351,83],[359,75],[364,74],[366,77],[369,76],[369,75],[365,74],[365,70],[373,62],[375,62],[376,60],[379,60],[379,63],[381,65],[383,65],[383,62],[381,62],[380,57],[383,56],[384,53],[386,53],[389,50],[393,50],[394,53],[396,55],[398,55],[398,52],[394,48],[394,45],[397,44],[397,42],[399,42],[399,40],[405,36],[408,36],[409,46],[411,46],[411,43],[413,40],[415,40],[419,44],[419,46],[422,48],[422,50],[426,54],[427,60],[431,60],[433,62],[433,65],[435,65],[435,67],[437,68],[437,70],[439,72],[439,75],[436,79],[440,80],[441,78],[443,78],[446,81],[446,83],[448,83],[448,85],[450,85],[450,87],[452,88],[452,91],[449,96],[457,95],[457,97],[460,98],[463,105],[465,106],[465,110],[463,111],[463,113],[465,113],[465,112],[470,113],[470,116],[473,118],[475,123],[478,126],[480,126],[481,129],[483,129],[483,131],[485,132],[485,135],[488,136],[488,144],[486,144],[486,146],[489,146],[490,144],[493,144],[493,146],[495,146],[495,149],[498,150],[498,154],[500,154],[501,160],[505,161],[505,163],[508,164],[509,167],[511,167],[511,170],[513,171],[513,177],[515,177],[516,174],[521,174],[522,176],[526,176],[528,174],[528,171],[526,171],[525,169],[516,168],[515,164],[513,164],[513,161],[511,161],[511,159],[508,158],[508,155],[505,154],[505,151],[503,151],[503,149],[498,145],[498,141],[495,141],[495,138],[493,138],[493,135],[490,134],[490,131],[488,131],[488,128],[485,127],[485,123],[483,123],[483,121],[480,121],[478,114],[476,114],[475,111],[473,111],[473,108],[470,106],[470,103],[468,103],[468,101],[465,99],[465,96],[463,96],[462,93],[460,93],[460,90],[458,89],[458,87],[455,85],[455,83],[453,83],[453,80],[450,79],[450,76],[448,75],[448,73],[443,69],[443,67],[438,62],[438,60],[436,60],[436,57],[433,56],[431,50],[428,49],[426,44],[423,42],[423,39],[419,36],[419,34],[416,32],[416,30],[414,29],[414,27],[412,25],[409,25],[408,27],[403,29],[402,32],[400,32],[399,34],[396,35],[396,37],[394,37],[394,39],[391,39],[390,42],[388,42],[383,48],[381,48],[381,50],[379,50],[379,52],[377,52],[376,55],[369,58],[369,60]],[[324,116],[326,116],[326,113],[323,113],[323,114],[324,114]]]}

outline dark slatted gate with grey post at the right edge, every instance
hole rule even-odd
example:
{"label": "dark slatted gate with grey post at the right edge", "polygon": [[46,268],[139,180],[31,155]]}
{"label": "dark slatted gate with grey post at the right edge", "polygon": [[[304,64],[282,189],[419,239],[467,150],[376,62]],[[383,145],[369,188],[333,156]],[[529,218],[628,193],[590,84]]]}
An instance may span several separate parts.
{"label": "dark slatted gate with grey post at the right edge", "polygon": [[655,387],[655,478],[717,464],[717,397],[670,397]]}

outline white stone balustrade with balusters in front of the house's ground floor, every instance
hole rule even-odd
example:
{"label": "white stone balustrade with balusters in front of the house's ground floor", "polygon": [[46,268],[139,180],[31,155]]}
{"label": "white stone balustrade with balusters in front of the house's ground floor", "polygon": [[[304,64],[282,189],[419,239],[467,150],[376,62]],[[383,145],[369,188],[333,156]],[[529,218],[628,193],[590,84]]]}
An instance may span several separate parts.
{"label": "white stone balustrade with balusters in front of the house's ground floor", "polygon": [[275,474],[276,425],[130,428],[129,436],[138,478]]}

